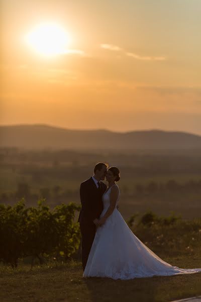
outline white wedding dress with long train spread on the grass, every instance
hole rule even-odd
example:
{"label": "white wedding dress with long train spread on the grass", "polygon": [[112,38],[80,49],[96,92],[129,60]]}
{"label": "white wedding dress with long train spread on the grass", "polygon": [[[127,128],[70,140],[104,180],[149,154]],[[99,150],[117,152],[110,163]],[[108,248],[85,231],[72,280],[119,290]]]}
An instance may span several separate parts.
{"label": "white wedding dress with long train spread on the grass", "polygon": [[[110,206],[110,191],[111,188],[103,195],[104,210],[100,217]],[[119,197],[120,193],[117,204]],[[201,268],[182,269],[160,259],[133,234],[119,210],[115,208],[105,224],[96,231],[83,277],[128,280],[197,272],[201,272]]]}

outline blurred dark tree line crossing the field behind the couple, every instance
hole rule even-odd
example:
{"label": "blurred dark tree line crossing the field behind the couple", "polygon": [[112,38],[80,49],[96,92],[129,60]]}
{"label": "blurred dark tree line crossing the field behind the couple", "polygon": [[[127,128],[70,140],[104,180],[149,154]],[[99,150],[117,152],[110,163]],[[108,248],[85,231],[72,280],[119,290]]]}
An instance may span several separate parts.
{"label": "blurred dark tree line crossing the field behind the couple", "polygon": [[[201,179],[200,180],[189,180],[185,183],[179,183],[174,179],[169,179],[168,181],[161,183],[156,181],[150,181],[147,184],[134,183],[133,187],[128,187],[123,185],[121,187],[121,192],[124,194],[155,194],[157,192],[201,192]],[[14,192],[2,193],[0,195],[0,203],[14,203],[21,198],[25,198],[28,201],[35,202],[39,198],[45,198],[50,203],[57,203],[64,200],[69,200],[72,197],[79,199],[78,189],[63,189],[59,185],[55,185],[52,188],[41,187],[38,193],[32,193],[31,187],[26,182],[20,182],[17,185],[17,190]]]}

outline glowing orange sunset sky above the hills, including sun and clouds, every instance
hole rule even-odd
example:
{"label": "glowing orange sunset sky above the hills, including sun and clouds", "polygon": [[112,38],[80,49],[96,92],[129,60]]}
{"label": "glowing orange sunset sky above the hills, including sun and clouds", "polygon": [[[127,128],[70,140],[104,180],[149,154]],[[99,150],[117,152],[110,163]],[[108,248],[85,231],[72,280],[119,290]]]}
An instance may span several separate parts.
{"label": "glowing orange sunset sky above the hills, including sun and clouds", "polygon": [[1,3],[1,125],[201,135],[200,0]]}

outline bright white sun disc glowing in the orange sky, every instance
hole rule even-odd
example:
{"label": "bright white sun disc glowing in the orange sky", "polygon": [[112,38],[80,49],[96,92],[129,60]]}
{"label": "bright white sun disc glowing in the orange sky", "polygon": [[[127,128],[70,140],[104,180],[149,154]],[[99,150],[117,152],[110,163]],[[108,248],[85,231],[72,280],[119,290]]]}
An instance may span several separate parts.
{"label": "bright white sun disc glowing in the orange sky", "polygon": [[37,25],[25,38],[35,51],[44,56],[66,53],[70,40],[64,28],[52,22]]}

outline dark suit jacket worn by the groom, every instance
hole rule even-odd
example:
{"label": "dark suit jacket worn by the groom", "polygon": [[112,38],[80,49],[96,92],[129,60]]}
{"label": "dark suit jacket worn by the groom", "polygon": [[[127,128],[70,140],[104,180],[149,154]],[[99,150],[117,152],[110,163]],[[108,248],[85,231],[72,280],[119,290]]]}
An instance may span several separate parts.
{"label": "dark suit jacket worn by the groom", "polygon": [[81,211],[79,213],[78,222],[93,223],[95,218],[99,218],[104,208],[102,196],[106,189],[107,186],[102,181],[100,181],[100,189],[98,189],[92,177],[81,183]]}

